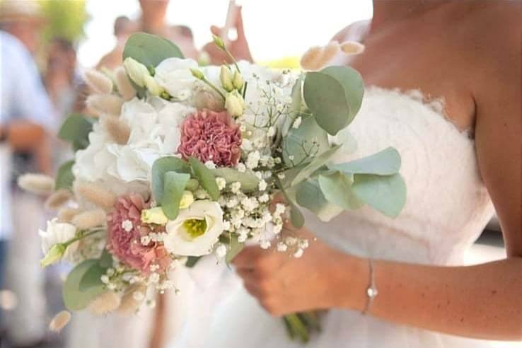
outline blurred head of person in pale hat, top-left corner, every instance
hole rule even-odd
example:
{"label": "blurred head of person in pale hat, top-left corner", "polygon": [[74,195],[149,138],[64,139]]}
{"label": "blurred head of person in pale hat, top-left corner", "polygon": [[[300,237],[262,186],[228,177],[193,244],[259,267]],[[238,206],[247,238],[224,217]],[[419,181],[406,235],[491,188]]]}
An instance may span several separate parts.
{"label": "blurred head of person in pale hat, top-left corner", "polygon": [[17,37],[31,53],[37,50],[43,23],[37,1],[0,1],[0,28]]}

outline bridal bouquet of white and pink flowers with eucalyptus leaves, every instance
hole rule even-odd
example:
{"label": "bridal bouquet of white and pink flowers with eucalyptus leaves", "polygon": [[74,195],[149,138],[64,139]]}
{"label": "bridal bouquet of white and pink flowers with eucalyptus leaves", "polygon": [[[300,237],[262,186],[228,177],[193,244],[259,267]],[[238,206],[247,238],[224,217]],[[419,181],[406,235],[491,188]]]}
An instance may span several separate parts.
{"label": "bridal bouquet of white and pink flowers with eucalyptus leaves", "polygon": [[353,69],[200,67],[144,33],[123,58],[114,73],[86,74],[98,116],[71,115],[59,131],[76,154],[47,199],[59,212],[40,231],[41,263],[74,265],[63,288],[69,310],[153,306],[156,292],[175,289],[176,267],[209,254],[230,262],[247,241],[300,257],[308,240],[283,224],[289,216],[303,226],[301,208],[324,221],[364,204],[388,216],[402,209],[395,149],[332,161],[355,146],[347,126],[364,86]]}

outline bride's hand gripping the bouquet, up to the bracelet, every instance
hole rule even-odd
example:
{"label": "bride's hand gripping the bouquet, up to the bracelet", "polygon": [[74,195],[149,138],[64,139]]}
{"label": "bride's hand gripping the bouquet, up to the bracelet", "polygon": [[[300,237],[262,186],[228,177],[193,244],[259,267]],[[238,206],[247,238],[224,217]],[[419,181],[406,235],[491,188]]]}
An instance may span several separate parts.
{"label": "bride's hand gripping the bouquet, up to the bracelet", "polygon": [[[332,307],[361,308],[367,280],[364,261],[314,240],[306,228],[298,234],[310,243],[302,257],[259,246],[245,248],[236,256],[233,265],[245,289],[274,316]],[[347,274],[351,275],[349,288]]]}

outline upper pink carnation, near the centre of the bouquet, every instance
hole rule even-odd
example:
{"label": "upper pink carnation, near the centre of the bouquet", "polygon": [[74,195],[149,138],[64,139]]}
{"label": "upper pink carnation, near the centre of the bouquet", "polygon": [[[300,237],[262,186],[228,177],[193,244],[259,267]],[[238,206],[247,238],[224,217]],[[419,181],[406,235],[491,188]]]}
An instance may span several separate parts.
{"label": "upper pink carnation, near the centre of the bouquet", "polygon": [[187,159],[212,161],[216,166],[234,166],[241,156],[239,126],[223,112],[198,111],[181,125],[181,144],[178,153]]}

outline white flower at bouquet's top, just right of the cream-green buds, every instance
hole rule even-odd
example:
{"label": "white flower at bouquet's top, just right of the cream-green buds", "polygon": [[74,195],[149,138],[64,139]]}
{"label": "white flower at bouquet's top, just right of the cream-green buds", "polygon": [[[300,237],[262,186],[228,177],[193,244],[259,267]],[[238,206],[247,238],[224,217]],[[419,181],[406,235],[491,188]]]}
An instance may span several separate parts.
{"label": "white flower at bouquet's top, just right of the cream-green buds", "polygon": [[154,79],[174,98],[186,100],[197,81],[191,68],[197,68],[197,62],[193,59],[168,58],[156,66]]}

